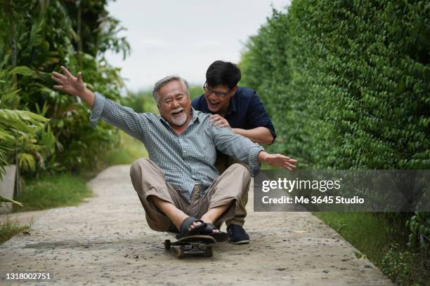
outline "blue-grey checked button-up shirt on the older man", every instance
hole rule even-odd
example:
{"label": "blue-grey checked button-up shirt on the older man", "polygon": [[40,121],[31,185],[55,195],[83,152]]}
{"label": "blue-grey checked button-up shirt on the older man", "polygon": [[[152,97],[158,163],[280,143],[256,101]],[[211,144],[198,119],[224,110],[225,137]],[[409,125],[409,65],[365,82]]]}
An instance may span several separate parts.
{"label": "blue-grey checked button-up shirt on the older man", "polygon": [[204,190],[219,176],[214,167],[216,149],[246,163],[251,174],[256,175],[260,169],[257,156],[263,147],[235,135],[230,128],[214,126],[209,114],[192,109],[192,116],[185,132],[176,135],[161,116],[138,114],[96,93],[90,121],[95,127],[101,118],[143,142],[150,160],[188,201],[195,184],[201,184]]}

